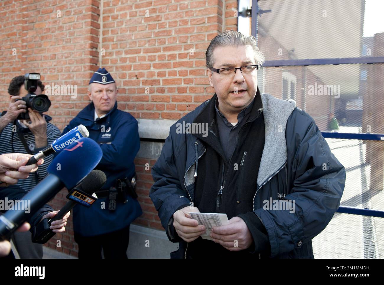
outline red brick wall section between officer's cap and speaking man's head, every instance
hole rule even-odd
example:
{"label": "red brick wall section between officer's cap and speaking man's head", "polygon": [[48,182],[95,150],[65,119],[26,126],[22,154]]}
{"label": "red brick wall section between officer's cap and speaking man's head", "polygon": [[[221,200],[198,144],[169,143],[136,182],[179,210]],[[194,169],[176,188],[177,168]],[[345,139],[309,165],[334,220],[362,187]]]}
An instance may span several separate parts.
{"label": "red brick wall section between officer's cap and speaking man's head", "polygon": [[122,87],[121,110],[136,118],[177,120],[212,97],[204,52],[222,30],[222,5],[218,0],[104,2],[102,61]]}

